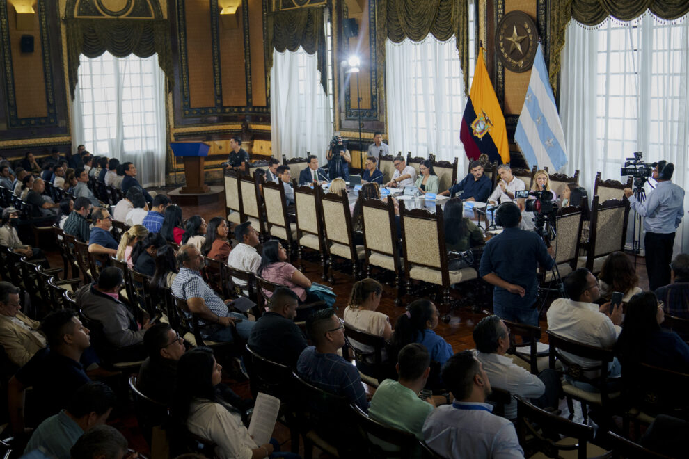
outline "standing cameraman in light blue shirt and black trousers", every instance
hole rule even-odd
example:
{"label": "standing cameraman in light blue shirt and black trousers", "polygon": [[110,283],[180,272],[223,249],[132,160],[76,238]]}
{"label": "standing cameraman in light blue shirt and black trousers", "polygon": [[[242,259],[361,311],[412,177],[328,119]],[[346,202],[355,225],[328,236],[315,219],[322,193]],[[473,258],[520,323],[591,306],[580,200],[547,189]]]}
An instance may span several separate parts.
{"label": "standing cameraman in light blue shirt and black trousers", "polygon": [[646,272],[652,291],[670,284],[670,262],[674,234],[684,215],[684,190],[673,184],[674,164],[667,161],[654,163],[653,178],[658,181],[645,203],[639,202],[631,188],[624,188],[631,208],[644,217],[644,246]]}

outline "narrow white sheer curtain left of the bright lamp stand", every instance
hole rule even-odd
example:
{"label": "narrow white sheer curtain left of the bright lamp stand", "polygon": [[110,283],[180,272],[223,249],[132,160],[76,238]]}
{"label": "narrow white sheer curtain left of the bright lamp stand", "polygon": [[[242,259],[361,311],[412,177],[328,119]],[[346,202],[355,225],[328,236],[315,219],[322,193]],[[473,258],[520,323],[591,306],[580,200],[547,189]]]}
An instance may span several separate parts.
{"label": "narrow white sheer curtain left of the bright lamp stand", "polygon": [[315,154],[319,163],[333,136],[328,96],[321,86],[316,54],[273,49],[270,72],[270,118],[273,156],[282,161]]}

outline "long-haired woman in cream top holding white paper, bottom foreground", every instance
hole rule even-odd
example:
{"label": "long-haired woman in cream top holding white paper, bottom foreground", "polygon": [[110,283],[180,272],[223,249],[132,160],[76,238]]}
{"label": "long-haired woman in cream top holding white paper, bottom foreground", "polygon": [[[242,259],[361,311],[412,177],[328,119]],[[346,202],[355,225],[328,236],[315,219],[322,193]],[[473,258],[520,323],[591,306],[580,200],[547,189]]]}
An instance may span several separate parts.
{"label": "long-haired woman in cream top holding white paper, bottom foreground", "polygon": [[223,378],[222,370],[209,348],[193,348],[180,357],[171,408],[173,431],[168,432],[171,448],[187,444],[192,433],[216,444],[218,458],[270,456],[273,445],[256,444],[241,423],[241,413],[219,396],[216,386]]}

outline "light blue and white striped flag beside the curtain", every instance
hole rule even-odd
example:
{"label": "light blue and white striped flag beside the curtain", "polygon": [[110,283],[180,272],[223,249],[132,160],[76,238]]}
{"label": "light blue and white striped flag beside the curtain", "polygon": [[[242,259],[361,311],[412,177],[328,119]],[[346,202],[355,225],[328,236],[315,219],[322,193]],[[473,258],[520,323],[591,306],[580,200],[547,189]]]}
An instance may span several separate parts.
{"label": "light blue and white striped flag beside the curtain", "polygon": [[567,147],[555,97],[548,81],[548,69],[539,43],[531,69],[529,88],[521,108],[514,140],[530,167],[546,166],[551,173],[567,164]]}

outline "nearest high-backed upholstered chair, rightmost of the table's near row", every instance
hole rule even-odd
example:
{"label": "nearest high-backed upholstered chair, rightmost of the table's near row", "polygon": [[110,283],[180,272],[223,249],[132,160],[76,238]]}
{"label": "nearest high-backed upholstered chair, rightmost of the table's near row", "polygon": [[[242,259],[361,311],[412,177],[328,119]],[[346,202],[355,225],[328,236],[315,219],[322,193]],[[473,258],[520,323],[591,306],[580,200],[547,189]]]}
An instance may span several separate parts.
{"label": "nearest high-backed upholstered chair, rightmost of the table's near row", "polygon": [[407,289],[412,280],[419,280],[441,287],[441,310],[443,320],[450,320],[450,285],[466,282],[478,277],[474,268],[450,271],[448,250],[445,248],[445,225],[443,209],[436,204],[436,213],[426,209],[404,208],[399,203],[399,217],[402,223],[402,246],[404,248],[404,277]]}

